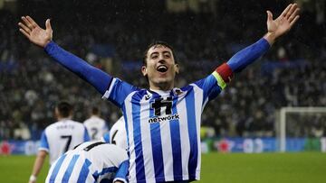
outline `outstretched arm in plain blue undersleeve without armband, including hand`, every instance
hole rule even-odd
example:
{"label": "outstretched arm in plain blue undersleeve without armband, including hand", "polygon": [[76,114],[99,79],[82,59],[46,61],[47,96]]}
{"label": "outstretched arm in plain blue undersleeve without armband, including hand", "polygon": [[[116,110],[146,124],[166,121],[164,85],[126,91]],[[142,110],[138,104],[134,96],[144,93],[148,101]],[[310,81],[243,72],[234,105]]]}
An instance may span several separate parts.
{"label": "outstretched arm in plain blue undersleeve without armband, including hand", "polygon": [[50,19],[45,22],[46,29],[42,29],[30,16],[22,17],[23,23],[18,23],[19,31],[24,34],[29,41],[42,47],[53,59],[60,63],[66,69],[71,70],[80,78],[89,82],[103,95],[110,85],[111,77],[101,69],[92,67],[89,63],[63,50],[53,39],[53,30]]}

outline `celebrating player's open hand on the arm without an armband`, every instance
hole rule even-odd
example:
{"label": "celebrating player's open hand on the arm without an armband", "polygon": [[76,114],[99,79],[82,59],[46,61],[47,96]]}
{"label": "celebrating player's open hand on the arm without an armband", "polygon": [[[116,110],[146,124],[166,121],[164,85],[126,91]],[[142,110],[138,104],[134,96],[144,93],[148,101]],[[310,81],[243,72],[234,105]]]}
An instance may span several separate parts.
{"label": "celebrating player's open hand on the arm without an armband", "polygon": [[50,19],[45,22],[46,29],[42,29],[30,16],[22,16],[22,22],[18,23],[19,31],[37,46],[44,48],[53,39],[53,29]]}

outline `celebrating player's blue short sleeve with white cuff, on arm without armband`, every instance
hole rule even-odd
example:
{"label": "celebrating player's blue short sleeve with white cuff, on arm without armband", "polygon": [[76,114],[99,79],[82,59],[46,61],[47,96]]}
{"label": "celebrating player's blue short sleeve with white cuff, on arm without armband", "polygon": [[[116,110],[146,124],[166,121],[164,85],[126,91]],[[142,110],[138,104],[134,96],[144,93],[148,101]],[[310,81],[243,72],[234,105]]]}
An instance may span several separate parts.
{"label": "celebrating player's blue short sleeve with white cuff, on arm without armband", "polygon": [[110,100],[114,105],[121,107],[126,97],[133,91],[138,90],[137,87],[129,85],[127,82],[121,81],[119,78],[112,78],[108,89],[102,98]]}

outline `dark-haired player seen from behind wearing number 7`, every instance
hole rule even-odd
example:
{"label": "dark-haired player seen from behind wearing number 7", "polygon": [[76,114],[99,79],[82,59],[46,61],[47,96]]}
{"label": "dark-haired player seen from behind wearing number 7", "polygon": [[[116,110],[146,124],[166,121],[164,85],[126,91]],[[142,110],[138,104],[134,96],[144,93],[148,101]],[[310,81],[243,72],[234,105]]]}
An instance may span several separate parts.
{"label": "dark-haired player seen from behind wearing number 7", "polygon": [[85,126],[72,121],[72,105],[60,102],[55,106],[54,114],[58,122],[45,128],[41,136],[40,148],[34,162],[34,168],[29,182],[34,183],[42,169],[43,162],[50,155],[50,165],[65,151],[71,150],[76,145],[90,141]]}

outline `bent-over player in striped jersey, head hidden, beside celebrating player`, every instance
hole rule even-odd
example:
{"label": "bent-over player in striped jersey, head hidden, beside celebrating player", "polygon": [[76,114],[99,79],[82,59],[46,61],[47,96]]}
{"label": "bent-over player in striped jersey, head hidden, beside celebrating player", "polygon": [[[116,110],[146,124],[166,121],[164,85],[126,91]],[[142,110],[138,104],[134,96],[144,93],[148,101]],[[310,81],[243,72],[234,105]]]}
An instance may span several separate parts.
{"label": "bent-over player in striped jersey, head hidden, beside celebrating player", "polygon": [[46,183],[127,182],[127,151],[106,142],[84,142],[56,160]]}

